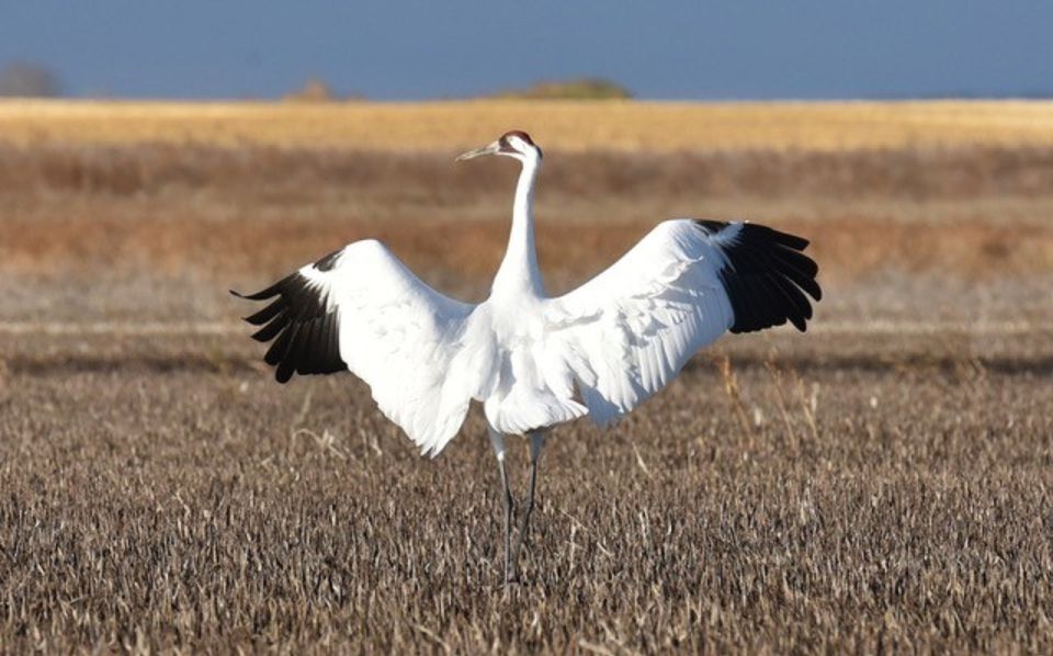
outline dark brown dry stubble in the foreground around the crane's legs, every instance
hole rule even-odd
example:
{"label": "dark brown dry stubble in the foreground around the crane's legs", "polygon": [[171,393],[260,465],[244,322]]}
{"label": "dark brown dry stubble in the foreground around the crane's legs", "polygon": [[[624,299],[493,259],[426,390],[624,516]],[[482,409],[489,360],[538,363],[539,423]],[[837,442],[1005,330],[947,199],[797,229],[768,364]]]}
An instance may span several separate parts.
{"label": "dark brown dry stubble in the foreground around the crane's legs", "polygon": [[4,374],[7,649],[1053,648],[1028,369],[760,347],[725,393],[703,358],[612,432],[555,433],[506,592],[477,416],[421,460],[350,377],[280,387],[201,347]]}

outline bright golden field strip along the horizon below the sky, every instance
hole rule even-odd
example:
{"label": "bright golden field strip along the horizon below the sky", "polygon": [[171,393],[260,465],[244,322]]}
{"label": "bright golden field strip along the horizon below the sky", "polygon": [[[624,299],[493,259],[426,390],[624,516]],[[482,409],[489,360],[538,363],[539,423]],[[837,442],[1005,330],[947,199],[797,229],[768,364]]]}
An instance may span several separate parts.
{"label": "bright golden field strip along the horizon below the sky", "polygon": [[510,128],[546,148],[670,152],[1051,146],[1053,102],[0,102],[0,140],[455,150]]}

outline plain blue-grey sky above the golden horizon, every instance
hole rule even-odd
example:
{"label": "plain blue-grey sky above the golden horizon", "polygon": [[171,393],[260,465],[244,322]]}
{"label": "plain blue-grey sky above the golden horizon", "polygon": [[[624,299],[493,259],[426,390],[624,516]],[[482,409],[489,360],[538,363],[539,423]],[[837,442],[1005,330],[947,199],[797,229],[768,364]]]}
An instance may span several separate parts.
{"label": "plain blue-grey sky above the golden horizon", "polygon": [[602,77],[645,99],[1053,97],[1053,2],[0,0],[0,68],[68,95],[454,99]]}

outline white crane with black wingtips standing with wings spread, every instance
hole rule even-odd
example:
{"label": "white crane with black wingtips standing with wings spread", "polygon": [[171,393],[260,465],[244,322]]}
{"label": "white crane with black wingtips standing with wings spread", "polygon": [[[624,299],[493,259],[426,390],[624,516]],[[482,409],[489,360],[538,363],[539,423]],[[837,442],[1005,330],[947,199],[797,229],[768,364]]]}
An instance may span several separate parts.
{"label": "white crane with black wingtips standing with wings spread", "polygon": [[[478,305],[420,281],[380,241],[355,241],[270,287],[274,301],[246,318],[274,340],[264,361],[293,373],[349,370],[381,411],[424,453],[457,434],[483,404],[505,495],[505,580],[530,525],[537,459],[554,426],[589,417],[607,426],[665,387],[700,348],[727,330],[792,323],[805,330],[818,301],[808,241],[750,224],[658,224],[621,260],[563,296],[545,294],[531,212],[542,151],[512,131],[458,161],[497,155],[522,163],[508,249]],[[234,292],[237,294],[236,292]],[[241,296],[241,294],[237,294]],[[530,496],[511,546],[513,500],[506,437],[530,438]]]}

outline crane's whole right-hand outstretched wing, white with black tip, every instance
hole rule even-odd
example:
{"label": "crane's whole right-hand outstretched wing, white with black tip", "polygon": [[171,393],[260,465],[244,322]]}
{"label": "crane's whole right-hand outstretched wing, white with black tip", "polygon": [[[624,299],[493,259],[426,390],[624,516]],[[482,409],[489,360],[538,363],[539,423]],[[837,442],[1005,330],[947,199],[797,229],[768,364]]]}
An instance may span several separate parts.
{"label": "crane's whole right-hand outstretched wing, white with black tip", "polygon": [[548,348],[605,425],[669,383],[725,330],[792,323],[822,297],[807,240],[749,223],[659,224],[607,271],[551,302]]}

